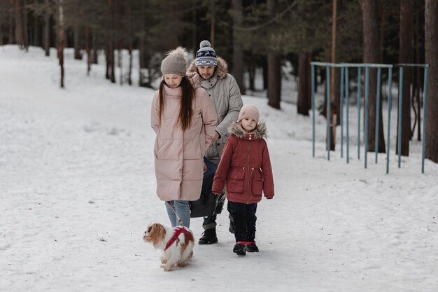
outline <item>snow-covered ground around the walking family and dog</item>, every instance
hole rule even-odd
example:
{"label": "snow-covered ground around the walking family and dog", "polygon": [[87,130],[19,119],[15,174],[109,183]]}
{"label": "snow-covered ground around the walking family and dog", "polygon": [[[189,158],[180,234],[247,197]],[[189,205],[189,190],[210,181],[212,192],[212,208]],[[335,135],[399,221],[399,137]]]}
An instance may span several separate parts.
{"label": "snow-covered ground around the walking family and dog", "polygon": [[[250,96],[276,186],[257,208],[260,252],[232,253],[225,209],[218,244],[163,272],[142,240],[148,223],[169,224],[155,195],[153,90],[111,84],[103,65],[86,76],[66,55],[62,90],[55,51],[0,47],[0,291],[437,291],[438,165],[421,174],[415,152],[399,169],[393,152],[386,174],[370,153],[365,169],[355,145],[349,164],[339,150],[327,161],[320,116],[312,158],[311,118]],[[190,227],[199,238],[202,218]]]}

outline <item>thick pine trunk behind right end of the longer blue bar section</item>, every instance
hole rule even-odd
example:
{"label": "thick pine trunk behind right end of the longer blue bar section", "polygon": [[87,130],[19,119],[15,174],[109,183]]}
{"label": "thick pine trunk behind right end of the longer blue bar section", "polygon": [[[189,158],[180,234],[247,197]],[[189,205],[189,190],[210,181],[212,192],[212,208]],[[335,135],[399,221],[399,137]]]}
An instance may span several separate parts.
{"label": "thick pine trunk behind right end of the longer blue bar section", "polygon": [[[379,41],[379,15],[377,11],[377,0],[362,0],[362,22],[364,38],[364,63],[380,63],[380,41]],[[383,137],[383,115],[382,106],[379,113],[376,113],[376,88],[377,71],[369,69],[369,111],[368,111],[368,151],[384,153],[385,138]],[[365,113],[366,114],[366,113]],[[375,149],[376,114],[379,115],[379,149]]]}

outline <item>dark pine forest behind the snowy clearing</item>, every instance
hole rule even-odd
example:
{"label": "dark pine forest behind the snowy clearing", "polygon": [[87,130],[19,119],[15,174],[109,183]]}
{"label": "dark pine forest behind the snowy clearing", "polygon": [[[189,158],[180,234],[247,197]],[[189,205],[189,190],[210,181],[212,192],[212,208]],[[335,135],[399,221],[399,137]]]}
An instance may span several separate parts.
{"label": "dark pine forest behind the snowy clearing", "polygon": [[[281,82],[297,78],[297,111],[304,116],[311,109],[311,61],[429,64],[425,157],[438,162],[437,17],[438,0],[0,0],[0,46],[39,46],[45,55],[57,48],[61,88],[64,48],[74,48],[76,59],[87,60],[84,74],[104,54],[102,78],[153,88],[167,51],[183,46],[193,56],[207,39],[228,63],[241,93],[266,92],[275,109],[281,108]],[[121,51],[129,54],[129,64],[123,65],[129,69],[116,76]],[[136,74],[133,62],[139,64]],[[257,72],[262,72],[262,88],[255,85]],[[316,73],[318,85],[324,84],[325,70]],[[340,71],[333,73],[331,102],[339,124]],[[382,106],[376,106],[376,76],[376,69],[370,69],[367,139],[369,151],[385,152],[383,126],[373,122],[382,115]],[[350,80],[353,92],[357,71],[351,71]],[[403,88],[401,152],[409,155],[409,141],[423,139],[418,128],[423,118],[422,69],[405,70]],[[318,110],[327,116],[325,102]],[[376,126],[379,149],[374,149]]]}

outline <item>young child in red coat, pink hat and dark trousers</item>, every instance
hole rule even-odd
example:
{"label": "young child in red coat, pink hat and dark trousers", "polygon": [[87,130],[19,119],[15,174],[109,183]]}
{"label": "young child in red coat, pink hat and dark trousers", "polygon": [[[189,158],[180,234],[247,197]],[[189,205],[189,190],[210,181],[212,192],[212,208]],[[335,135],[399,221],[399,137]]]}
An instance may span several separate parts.
{"label": "young child in red coat, pink hat and dark trousers", "polygon": [[274,197],[274,179],[268,146],[266,125],[259,123],[259,111],[253,105],[243,106],[237,122],[229,129],[214,176],[212,191],[227,190],[228,211],[234,221],[236,244],[233,252],[244,256],[246,251],[259,251],[255,244],[257,202],[262,193],[267,199]]}

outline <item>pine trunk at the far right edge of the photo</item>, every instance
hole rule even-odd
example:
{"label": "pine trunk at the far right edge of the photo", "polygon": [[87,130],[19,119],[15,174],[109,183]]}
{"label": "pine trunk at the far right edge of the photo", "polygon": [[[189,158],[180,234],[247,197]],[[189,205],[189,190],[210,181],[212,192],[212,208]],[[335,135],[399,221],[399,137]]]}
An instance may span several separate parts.
{"label": "pine trunk at the far right edge of the photo", "polygon": [[425,61],[429,64],[425,157],[438,162],[438,1],[425,1]]}

